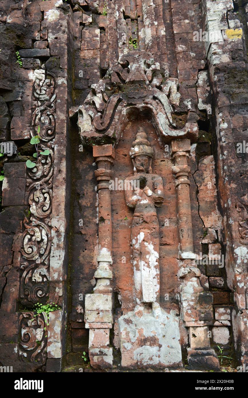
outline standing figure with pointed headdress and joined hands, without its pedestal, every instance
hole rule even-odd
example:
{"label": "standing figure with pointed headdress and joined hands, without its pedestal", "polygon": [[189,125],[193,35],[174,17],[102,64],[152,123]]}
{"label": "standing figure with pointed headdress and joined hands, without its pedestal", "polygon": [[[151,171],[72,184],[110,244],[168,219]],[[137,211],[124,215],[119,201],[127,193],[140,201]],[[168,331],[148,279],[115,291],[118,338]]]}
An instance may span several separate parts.
{"label": "standing figure with pointed headdress and joined hands, without its pedestal", "polygon": [[[151,303],[153,314],[161,314],[159,295],[159,222],[156,207],[164,200],[163,180],[152,174],[151,162],[154,151],[145,131],[140,128],[132,143],[130,157],[134,175],[125,179],[125,198],[134,208],[132,220],[132,261],[136,290],[136,308],[140,316],[144,303]],[[134,189],[137,187],[137,189]]]}

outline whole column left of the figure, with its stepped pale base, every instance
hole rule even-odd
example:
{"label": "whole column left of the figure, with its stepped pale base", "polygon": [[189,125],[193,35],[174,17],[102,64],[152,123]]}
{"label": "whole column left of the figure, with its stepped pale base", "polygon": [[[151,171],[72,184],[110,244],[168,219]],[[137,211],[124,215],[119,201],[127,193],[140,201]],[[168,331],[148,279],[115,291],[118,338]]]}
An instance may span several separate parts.
{"label": "whole column left of the figure, with its stepped pale base", "polygon": [[97,164],[99,208],[99,256],[95,271],[97,281],[93,294],[85,295],[85,328],[89,328],[89,359],[94,368],[112,367],[112,348],[109,347],[109,332],[112,328],[112,220],[109,180],[114,160],[112,144],[93,146]]}

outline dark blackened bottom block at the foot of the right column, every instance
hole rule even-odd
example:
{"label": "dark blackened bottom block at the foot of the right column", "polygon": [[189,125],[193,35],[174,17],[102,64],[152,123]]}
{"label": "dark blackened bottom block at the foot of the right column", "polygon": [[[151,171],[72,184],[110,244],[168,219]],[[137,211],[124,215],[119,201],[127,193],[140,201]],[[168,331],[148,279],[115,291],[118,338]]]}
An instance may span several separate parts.
{"label": "dark blackened bottom block at the foot of the right column", "polygon": [[220,369],[219,359],[214,349],[189,349],[188,368],[189,370],[218,371]]}

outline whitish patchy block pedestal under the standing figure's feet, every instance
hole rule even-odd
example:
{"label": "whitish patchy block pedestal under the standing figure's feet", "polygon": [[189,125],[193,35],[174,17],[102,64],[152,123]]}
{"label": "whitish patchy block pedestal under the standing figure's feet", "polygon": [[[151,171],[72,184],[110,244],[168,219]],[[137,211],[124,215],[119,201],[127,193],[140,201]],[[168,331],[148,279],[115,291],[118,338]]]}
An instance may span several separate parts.
{"label": "whitish patchy block pedestal under the standing figure's feet", "polygon": [[118,320],[122,366],[182,366],[179,321],[175,312],[130,311]]}

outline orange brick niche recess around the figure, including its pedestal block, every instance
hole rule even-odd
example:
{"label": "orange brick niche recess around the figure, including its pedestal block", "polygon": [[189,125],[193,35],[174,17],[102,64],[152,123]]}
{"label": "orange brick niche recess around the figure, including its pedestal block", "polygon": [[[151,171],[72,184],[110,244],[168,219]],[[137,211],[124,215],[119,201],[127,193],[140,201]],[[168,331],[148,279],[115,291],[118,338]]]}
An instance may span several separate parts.
{"label": "orange brick niche recess around the figure, including its pedestal block", "polygon": [[[123,129],[115,149],[112,203],[112,244],[114,290],[118,292],[122,316],[115,319],[115,344],[121,350],[122,366],[165,367],[182,365],[179,333],[179,282],[177,273],[178,227],[176,190],[169,146],[162,144],[150,121],[150,115],[134,113]],[[133,175],[130,148],[139,129],[147,134],[153,148],[152,174],[163,179],[164,201],[157,207],[159,222],[160,311],[144,303],[144,312],[136,307],[131,230],[134,209],[127,206],[120,180]]]}

